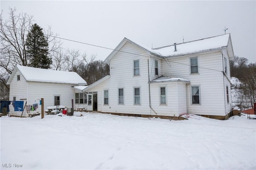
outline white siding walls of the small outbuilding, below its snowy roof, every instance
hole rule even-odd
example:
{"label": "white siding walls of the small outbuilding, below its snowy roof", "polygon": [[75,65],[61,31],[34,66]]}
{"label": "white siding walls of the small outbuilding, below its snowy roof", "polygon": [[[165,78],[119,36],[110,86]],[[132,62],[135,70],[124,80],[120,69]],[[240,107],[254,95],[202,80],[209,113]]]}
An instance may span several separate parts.
{"label": "white siding walls of the small outbuilding, below its snowy roof", "polygon": [[[17,71],[17,74],[19,72]],[[11,81],[11,91],[10,99],[16,95],[16,100],[27,99],[27,105],[32,105],[35,103],[39,104],[41,98],[44,98],[44,109],[49,106],[54,106],[54,96],[60,96],[60,105],[71,108],[72,99],[75,102],[74,89],[71,88],[71,84],[61,84],[61,83],[37,83],[37,82],[26,82],[24,77],[20,76],[20,81],[16,82],[16,75]],[[28,89],[28,90],[27,90]],[[22,112],[14,112],[13,107],[10,107],[10,115],[20,116]],[[34,112],[41,113],[41,105],[38,105],[38,109]],[[26,109],[23,112],[23,117],[27,117]]]}

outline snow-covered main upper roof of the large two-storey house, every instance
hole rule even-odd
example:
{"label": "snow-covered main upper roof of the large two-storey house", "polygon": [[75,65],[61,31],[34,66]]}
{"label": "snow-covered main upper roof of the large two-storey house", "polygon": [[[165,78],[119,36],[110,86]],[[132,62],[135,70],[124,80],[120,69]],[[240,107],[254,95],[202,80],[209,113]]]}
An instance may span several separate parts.
{"label": "snow-covered main upper roof of the large two-storey house", "polygon": [[149,47],[140,45],[139,43],[135,43],[127,38],[124,38],[122,42],[120,42],[118,46],[110,53],[110,55],[108,55],[108,57],[105,59],[105,62],[109,63],[112,57],[114,57],[114,55],[116,55],[116,53],[121,50],[121,48],[126,44],[126,42],[130,42],[139,47],[140,49],[145,50],[148,53],[156,55],[158,57],[173,57],[191,53],[199,53],[204,51],[213,51],[224,47],[227,48],[230,59],[234,57],[234,51],[232,47],[230,34],[224,34],[220,36],[204,38],[191,42],[177,43],[177,51],[174,51],[174,45],[150,49]]}

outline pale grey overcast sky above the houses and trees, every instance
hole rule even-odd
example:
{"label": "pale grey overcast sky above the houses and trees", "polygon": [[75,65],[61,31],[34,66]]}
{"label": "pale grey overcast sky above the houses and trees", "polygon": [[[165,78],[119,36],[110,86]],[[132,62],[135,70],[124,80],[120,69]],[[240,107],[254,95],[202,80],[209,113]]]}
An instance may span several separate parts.
{"label": "pale grey overcast sky above the houses and trees", "polygon": [[[52,27],[61,38],[114,49],[124,37],[156,48],[173,43],[231,34],[234,54],[256,62],[256,1],[0,1],[34,16],[34,23]],[[112,52],[62,40],[64,48],[80,49],[104,60]]]}

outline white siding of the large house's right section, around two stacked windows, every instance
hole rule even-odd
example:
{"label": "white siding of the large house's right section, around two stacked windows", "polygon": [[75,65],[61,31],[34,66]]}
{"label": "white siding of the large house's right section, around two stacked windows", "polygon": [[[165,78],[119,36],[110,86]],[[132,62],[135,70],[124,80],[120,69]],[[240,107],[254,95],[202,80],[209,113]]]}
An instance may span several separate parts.
{"label": "white siding of the large house's right section, around two stacked windows", "polygon": [[[198,57],[199,74],[190,75],[190,57]],[[198,115],[225,115],[220,51],[200,55],[172,57],[168,58],[168,61],[170,61],[171,66],[167,62],[162,61],[163,75],[182,77],[191,82],[187,89],[188,113]],[[200,105],[192,104],[191,86],[200,86]]]}

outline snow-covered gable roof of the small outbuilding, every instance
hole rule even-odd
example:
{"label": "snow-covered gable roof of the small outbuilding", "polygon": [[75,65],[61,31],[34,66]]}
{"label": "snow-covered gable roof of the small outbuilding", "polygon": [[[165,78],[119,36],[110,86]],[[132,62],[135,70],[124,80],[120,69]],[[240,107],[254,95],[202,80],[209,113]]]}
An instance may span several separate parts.
{"label": "snow-covered gable roof of the small outbuilding", "polygon": [[70,71],[58,71],[50,69],[40,69],[34,67],[26,67],[16,65],[12,72],[8,84],[12,80],[12,77],[19,70],[26,81],[44,82],[44,83],[66,83],[66,84],[83,84],[86,85],[86,81],[80,77],[76,72]]}

